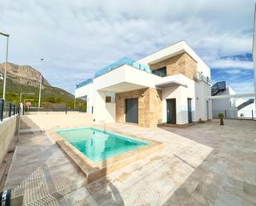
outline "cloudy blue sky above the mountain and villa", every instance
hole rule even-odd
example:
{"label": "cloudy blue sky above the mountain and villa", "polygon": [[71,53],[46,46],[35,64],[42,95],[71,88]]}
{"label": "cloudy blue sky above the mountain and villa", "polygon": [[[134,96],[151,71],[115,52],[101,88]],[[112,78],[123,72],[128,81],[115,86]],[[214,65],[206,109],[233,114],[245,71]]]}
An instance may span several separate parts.
{"label": "cloudy blue sky above the mountain and villa", "polygon": [[[138,60],[176,41],[210,66],[213,82],[254,91],[254,0],[1,0],[9,61],[40,70],[52,85],[75,84],[123,56]],[[5,41],[0,38],[0,61]],[[45,61],[41,64],[40,59]]]}

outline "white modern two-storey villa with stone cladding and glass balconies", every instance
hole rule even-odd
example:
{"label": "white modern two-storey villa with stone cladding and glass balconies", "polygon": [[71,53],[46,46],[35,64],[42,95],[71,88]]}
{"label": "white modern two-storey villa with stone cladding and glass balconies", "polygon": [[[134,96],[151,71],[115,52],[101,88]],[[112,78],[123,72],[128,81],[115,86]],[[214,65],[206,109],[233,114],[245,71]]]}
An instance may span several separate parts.
{"label": "white modern two-storey villa with stone cladding and glass balconies", "polygon": [[130,122],[142,127],[186,125],[212,118],[210,68],[179,41],[140,60],[123,58],[77,84],[94,122]]}

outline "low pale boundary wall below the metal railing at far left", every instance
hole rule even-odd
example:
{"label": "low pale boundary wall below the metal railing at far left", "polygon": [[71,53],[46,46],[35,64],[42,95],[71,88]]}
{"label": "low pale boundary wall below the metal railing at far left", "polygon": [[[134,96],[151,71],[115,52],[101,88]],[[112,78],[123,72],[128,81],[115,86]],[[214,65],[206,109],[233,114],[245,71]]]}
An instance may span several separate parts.
{"label": "low pale boundary wall below the metal railing at far left", "polygon": [[8,117],[0,122],[0,165],[7,155],[8,147],[14,137],[17,116]]}

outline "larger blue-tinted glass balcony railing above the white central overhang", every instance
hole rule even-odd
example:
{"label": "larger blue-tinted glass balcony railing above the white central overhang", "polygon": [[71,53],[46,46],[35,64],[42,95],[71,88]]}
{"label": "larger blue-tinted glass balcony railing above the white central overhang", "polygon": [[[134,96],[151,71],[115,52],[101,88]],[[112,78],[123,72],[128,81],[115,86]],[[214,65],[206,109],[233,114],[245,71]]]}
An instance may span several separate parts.
{"label": "larger blue-tinted glass balcony railing above the white central overhang", "polygon": [[152,73],[151,69],[147,65],[142,65],[138,62],[135,62],[134,60],[131,60],[131,59],[128,59],[127,57],[124,57],[123,59],[118,60],[118,61],[114,62],[113,64],[104,67],[103,69],[99,69],[99,71],[97,71],[94,74],[94,78],[99,77],[103,74],[106,74],[109,71],[111,71],[113,69],[116,69],[116,68],[118,68],[122,65],[130,65],[130,66],[133,66],[137,69],[141,69],[141,70],[146,71],[148,73]]}

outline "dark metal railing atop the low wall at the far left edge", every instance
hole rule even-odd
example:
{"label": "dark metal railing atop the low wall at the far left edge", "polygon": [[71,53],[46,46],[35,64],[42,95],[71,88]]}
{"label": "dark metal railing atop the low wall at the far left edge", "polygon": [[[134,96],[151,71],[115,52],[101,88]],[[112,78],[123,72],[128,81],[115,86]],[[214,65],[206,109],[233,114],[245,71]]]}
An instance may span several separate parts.
{"label": "dark metal railing atop the low wall at the far left edge", "polygon": [[7,117],[12,117],[19,113],[20,107],[13,103],[5,102],[3,99],[0,99],[0,121]]}

